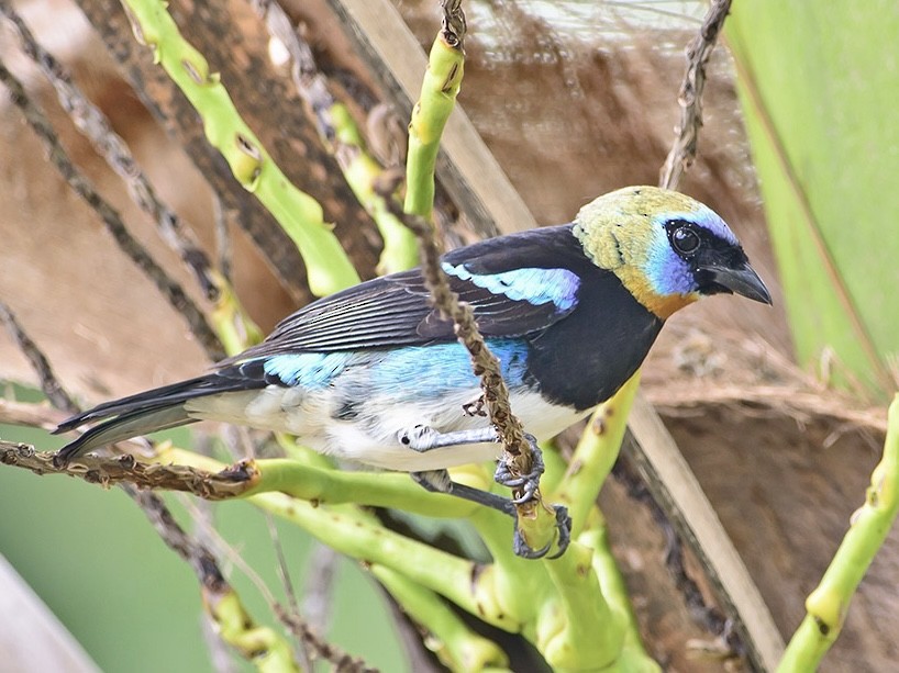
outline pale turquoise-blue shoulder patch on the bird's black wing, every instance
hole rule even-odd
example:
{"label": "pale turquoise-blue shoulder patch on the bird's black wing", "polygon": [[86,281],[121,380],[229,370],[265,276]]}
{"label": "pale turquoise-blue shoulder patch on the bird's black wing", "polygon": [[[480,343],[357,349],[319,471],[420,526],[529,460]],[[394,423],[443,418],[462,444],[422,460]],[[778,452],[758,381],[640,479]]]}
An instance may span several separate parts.
{"label": "pale turquoise-blue shoulder patch on the bird's black wing", "polygon": [[493,294],[504,294],[513,301],[526,301],[537,306],[553,302],[559,311],[568,311],[577,303],[580,280],[568,269],[524,268],[478,276],[464,265],[454,267],[443,262],[443,270],[460,280],[470,280],[478,288]]}

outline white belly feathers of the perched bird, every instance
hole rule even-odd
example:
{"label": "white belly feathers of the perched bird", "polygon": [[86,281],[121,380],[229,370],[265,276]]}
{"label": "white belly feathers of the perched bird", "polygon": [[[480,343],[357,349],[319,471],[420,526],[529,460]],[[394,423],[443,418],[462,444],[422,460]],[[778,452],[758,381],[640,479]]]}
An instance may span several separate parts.
{"label": "white belly feathers of the perched bird", "polygon": [[[260,391],[200,397],[187,403],[191,416],[249,425],[260,429],[297,435],[310,448],[366,466],[399,472],[423,472],[495,460],[501,452],[497,444],[476,444],[417,451],[401,444],[399,433],[426,425],[440,433],[487,427],[481,416],[468,416],[463,405],[478,391],[466,390],[440,400],[420,400],[397,404],[368,401],[351,419],[332,415],[335,401],[330,394],[304,394],[297,389],[268,386]],[[539,440],[554,437],[584,418],[590,410],[575,412],[550,404],[536,392],[512,392],[512,411],[525,431]]]}

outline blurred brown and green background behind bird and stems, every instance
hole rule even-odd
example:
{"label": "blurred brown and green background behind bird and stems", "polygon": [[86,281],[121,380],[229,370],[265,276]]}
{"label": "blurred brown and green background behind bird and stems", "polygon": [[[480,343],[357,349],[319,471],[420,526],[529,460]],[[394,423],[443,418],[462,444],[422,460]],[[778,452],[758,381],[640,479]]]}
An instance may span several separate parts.
{"label": "blurred brown and green background behind bird and stems", "polygon": [[[364,124],[389,97],[354,52],[332,4],[282,4]],[[436,3],[395,5],[426,48],[439,24]],[[14,7],[214,257],[210,184],[218,189],[221,166],[203,158],[196,119],[169,100],[165,76],[133,42],[121,8],[92,0],[20,0]],[[883,445],[885,401],[896,385],[899,229],[892,222],[899,190],[890,181],[899,168],[899,56],[890,45],[899,37],[899,8],[886,1],[864,8],[841,1],[826,10],[774,1],[752,7],[734,2],[724,44],[712,55],[699,156],[680,190],[732,225],[775,305],[713,299],[678,314],[644,368],[644,390],[786,637],[862,503]],[[333,160],[289,87],[288,67],[273,63],[265,26],[249,4],[174,0],[170,9],[222,71],[279,165],[322,201],[360,273],[374,276],[376,231],[338,184]],[[706,3],[471,0],[465,9],[460,104],[537,222],[568,222],[600,193],[658,181],[679,120],[684,47]],[[0,57],[45,106],[73,159],[202,304],[176,255],[74,128],[18,44],[0,20]],[[209,362],[181,317],[47,162],[2,87],[0,111],[0,299],[66,388],[92,404],[201,372]],[[403,114],[398,111],[404,125]],[[243,203],[240,188],[230,189]],[[268,330],[309,299],[301,262],[277,246],[260,251],[247,223],[264,231],[264,220],[251,206],[223,200],[236,290]],[[451,240],[478,236],[464,213],[451,234]],[[36,383],[4,336],[0,380],[8,382],[8,399],[30,399]],[[2,426],[0,437],[41,449],[60,445],[46,431],[21,427]],[[190,438],[179,435],[178,441]],[[167,501],[181,514],[196,506]],[[697,660],[687,644],[710,636],[691,621],[668,576],[665,534],[652,513],[615,481],[601,504],[651,651],[670,670],[721,670],[720,662]],[[101,669],[243,665],[213,663],[196,580],[116,490],[0,469],[0,554]],[[243,503],[223,503],[209,516],[281,591],[262,515]],[[297,585],[310,588],[310,577],[323,583],[328,573],[309,567],[310,554],[320,553],[310,539],[289,527],[280,538]],[[385,671],[420,670],[403,640],[408,626],[395,620],[375,583],[355,563],[325,558],[334,572],[320,587],[333,596],[321,619],[329,638]],[[897,562],[892,535],[825,670],[889,670],[899,657]],[[266,614],[252,583],[235,577],[251,610]]]}

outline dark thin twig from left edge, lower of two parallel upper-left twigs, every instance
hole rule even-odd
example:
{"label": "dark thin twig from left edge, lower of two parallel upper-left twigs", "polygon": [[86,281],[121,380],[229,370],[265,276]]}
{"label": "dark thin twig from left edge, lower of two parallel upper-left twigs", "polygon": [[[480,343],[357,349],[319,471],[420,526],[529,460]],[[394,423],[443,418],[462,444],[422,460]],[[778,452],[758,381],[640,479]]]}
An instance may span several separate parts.
{"label": "dark thin twig from left edge, lower of two parallel upper-left twigs", "polygon": [[203,313],[173,279],[131,235],[122,222],[121,215],[103,199],[90,181],[76,168],[68,157],[68,154],[59,143],[53,125],[44,111],[29,98],[25,88],[15,76],[10,72],[5,65],[0,63],[0,82],[7,86],[10,91],[10,99],[22,111],[25,121],[44,143],[51,161],[69,183],[69,187],[81,197],[87,204],[93,209],[97,215],[112,234],[119,248],[153,281],[168,303],[184,317],[195,338],[203,347],[207,355],[212,360],[224,358],[219,337],[209,326]]}

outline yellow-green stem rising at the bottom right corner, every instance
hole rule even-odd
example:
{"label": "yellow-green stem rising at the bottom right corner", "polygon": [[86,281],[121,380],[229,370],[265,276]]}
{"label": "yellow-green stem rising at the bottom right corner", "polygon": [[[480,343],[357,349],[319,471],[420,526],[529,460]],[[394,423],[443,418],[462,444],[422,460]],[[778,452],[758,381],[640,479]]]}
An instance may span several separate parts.
{"label": "yellow-green stem rising at the bottom right corner", "polygon": [[880,549],[899,512],[899,394],[888,413],[884,456],[874,469],[865,504],[855,512],[843,542],[821,583],[806,599],[806,618],[777,668],[783,673],[814,671],[840,636],[855,590]]}

